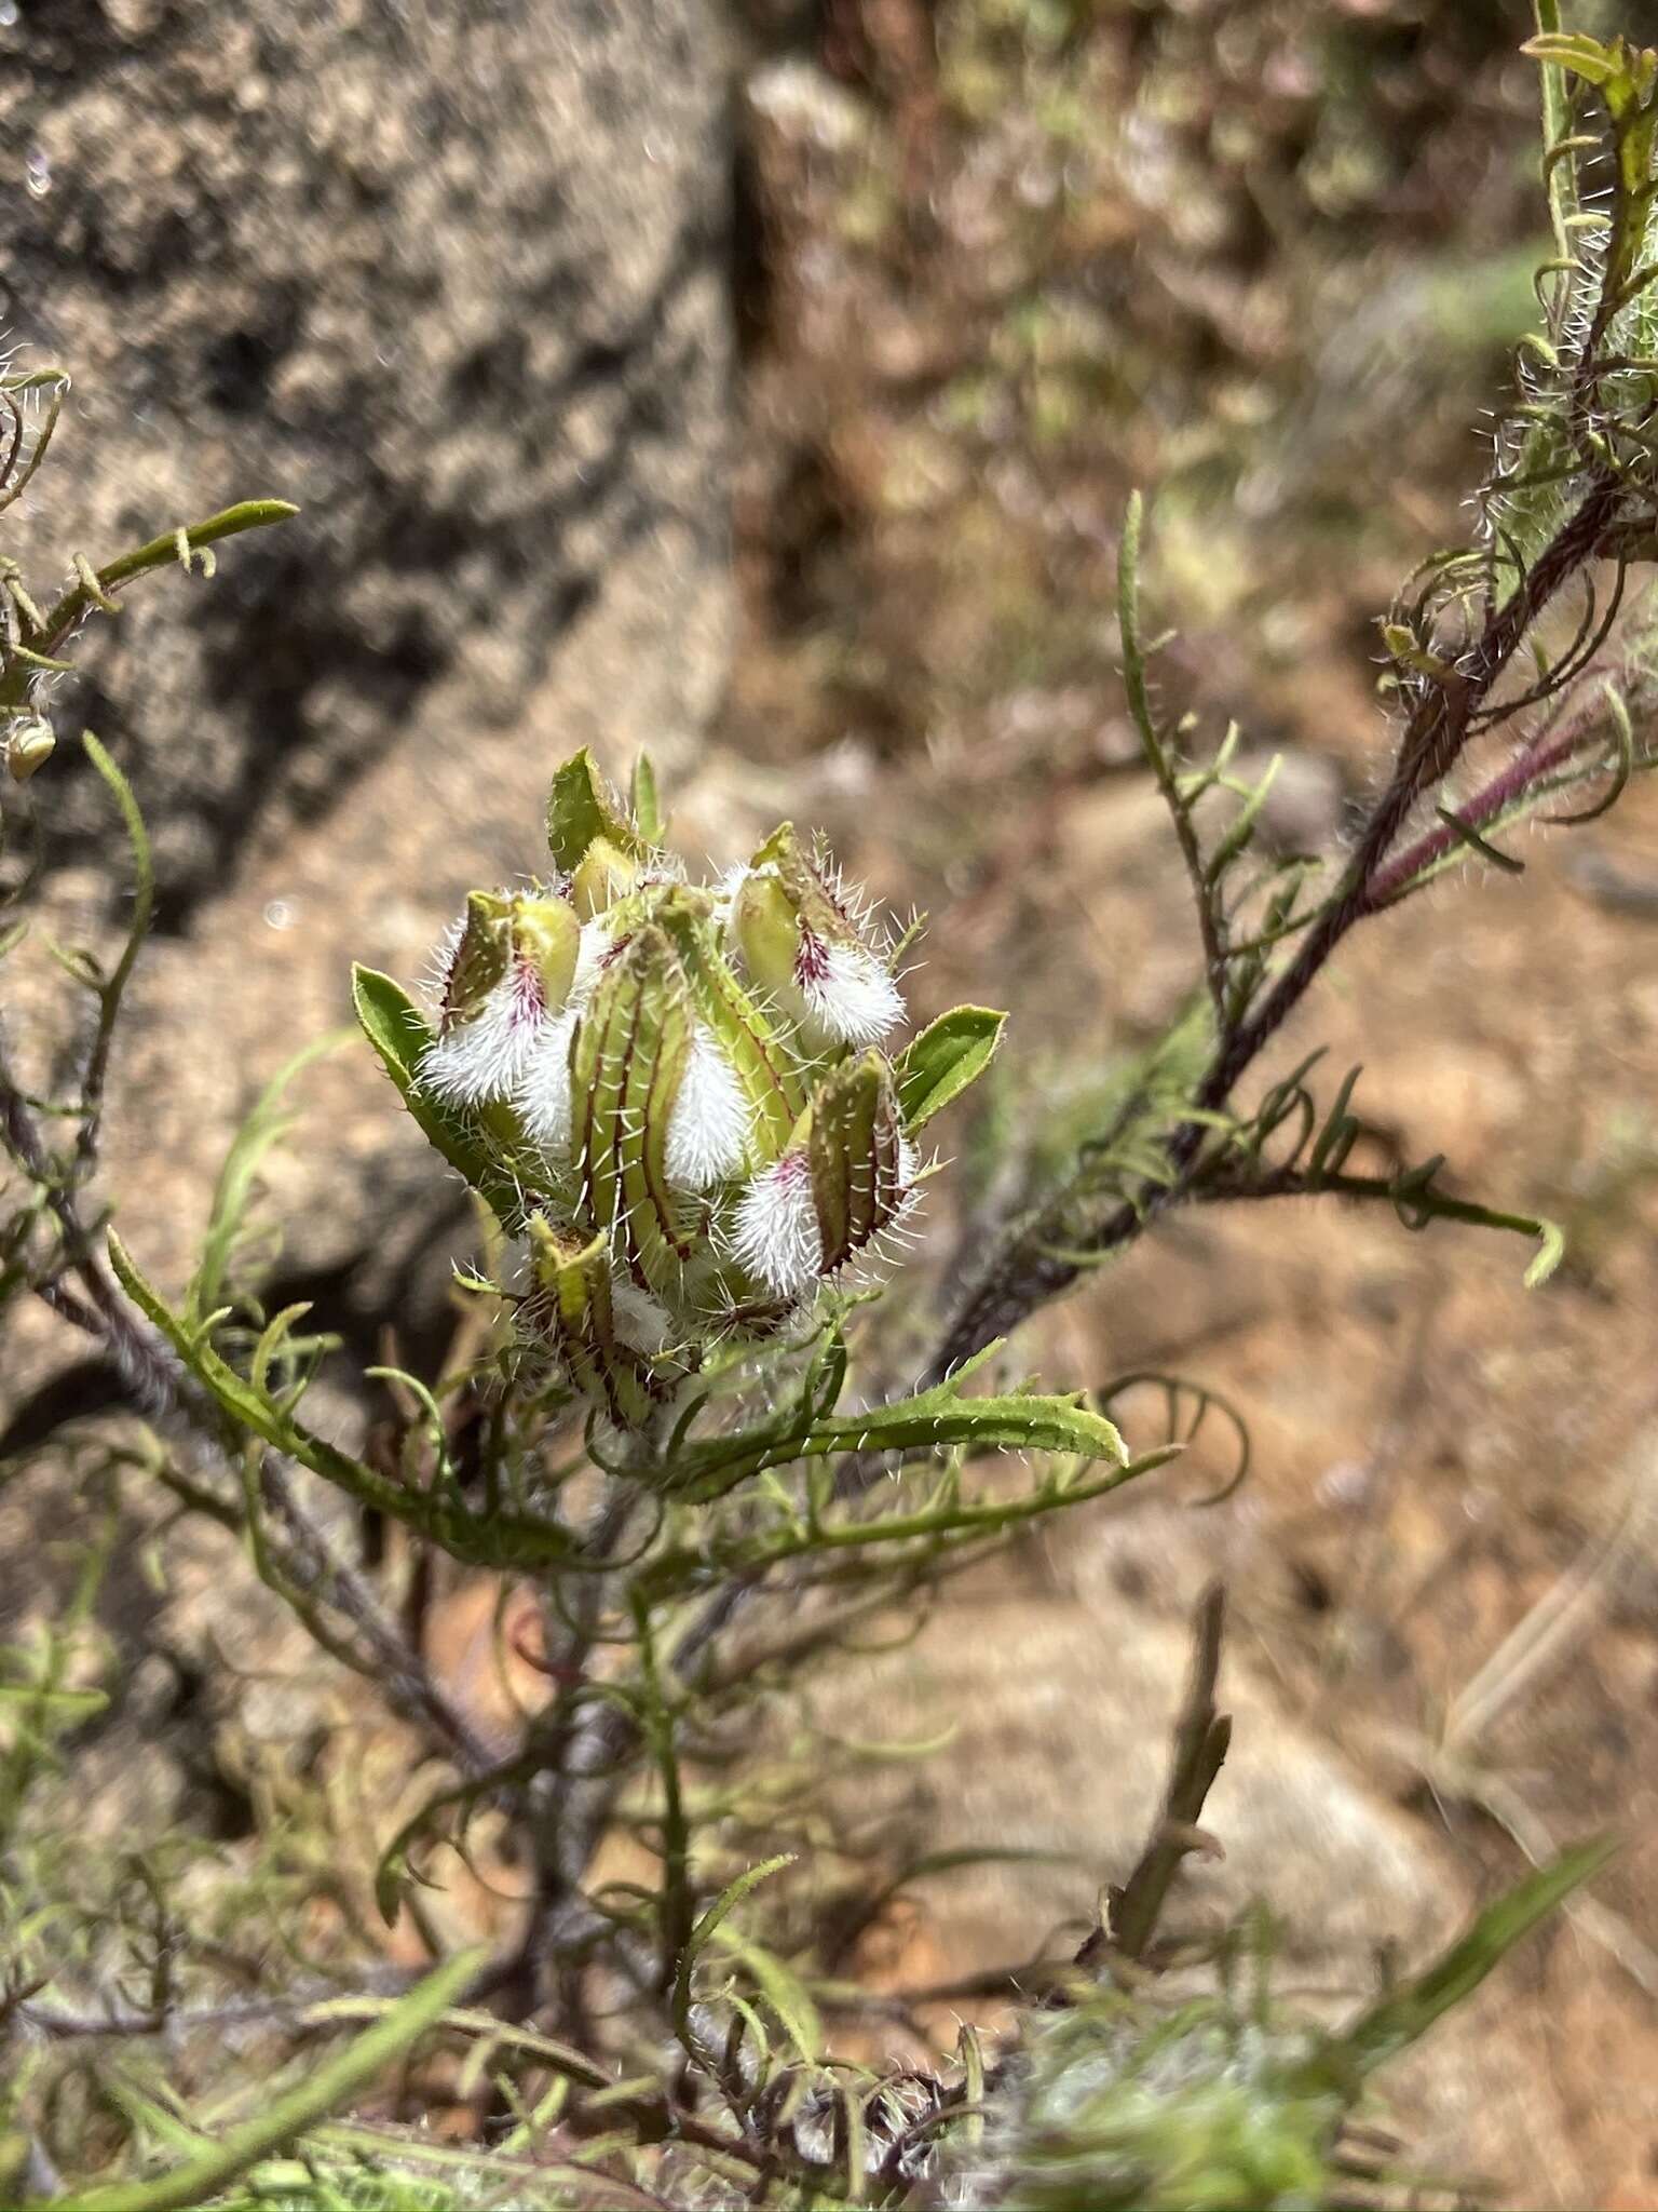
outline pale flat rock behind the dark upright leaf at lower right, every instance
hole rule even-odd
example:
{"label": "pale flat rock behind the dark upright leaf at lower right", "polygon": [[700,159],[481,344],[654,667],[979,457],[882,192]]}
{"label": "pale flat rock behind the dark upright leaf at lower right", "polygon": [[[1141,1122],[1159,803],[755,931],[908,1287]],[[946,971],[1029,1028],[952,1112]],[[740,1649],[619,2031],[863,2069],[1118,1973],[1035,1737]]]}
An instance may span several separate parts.
{"label": "pale flat rock behind the dark upright leaf at lower right", "polygon": [[[836,1674],[836,1701],[864,1714],[860,1736],[917,1743],[955,1728],[944,1756],[860,1774],[860,1818],[917,1851],[1068,1856],[968,1867],[933,1885],[948,1971],[1035,1958],[1063,1920],[1088,1922],[1101,1882],[1125,1880],[1167,1781],[1189,1663],[1183,1624],[1116,1593],[1032,1601],[982,1588],[944,1606],[913,1648]],[[1220,1705],[1234,1714],[1234,1750],[1205,1827],[1225,1860],[1187,1860],[1169,1929],[1218,1927],[1260,1898],[1284,1924],[1284,1953],[1357,2000],[1375,1984],[1377,1947],[1417,1955],[1448,1931],[1459,1885],[1236,1659]]]}

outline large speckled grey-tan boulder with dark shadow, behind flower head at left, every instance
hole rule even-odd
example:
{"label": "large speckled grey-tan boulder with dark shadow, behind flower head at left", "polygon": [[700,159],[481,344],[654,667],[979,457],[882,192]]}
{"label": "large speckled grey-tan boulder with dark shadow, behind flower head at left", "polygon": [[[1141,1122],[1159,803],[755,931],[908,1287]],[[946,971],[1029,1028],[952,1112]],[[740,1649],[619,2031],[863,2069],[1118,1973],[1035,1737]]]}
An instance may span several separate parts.
{"label": "large speckled grey-tan boulder with dark shadow, behind flower head at left", "polygon": [[[4,11],[0,325],[75,376],[7,551],[44,588],[234,498],[303,507],[93,622],[57,699],[157,843],[106,1157],[168,1287],[259,1082],[349,1018],[349,960],[413,975],[469,885],[535,867],[573,745],[696,743],[727,622],[723,97],[696,0]],[[97,940],[108,799],[71,743],[33,790],[46,920]],[[20,971],[18,1026],[62,998]],[[440,1175],[367,1055],[309,1095],[292,1265],[420,1250]]]}

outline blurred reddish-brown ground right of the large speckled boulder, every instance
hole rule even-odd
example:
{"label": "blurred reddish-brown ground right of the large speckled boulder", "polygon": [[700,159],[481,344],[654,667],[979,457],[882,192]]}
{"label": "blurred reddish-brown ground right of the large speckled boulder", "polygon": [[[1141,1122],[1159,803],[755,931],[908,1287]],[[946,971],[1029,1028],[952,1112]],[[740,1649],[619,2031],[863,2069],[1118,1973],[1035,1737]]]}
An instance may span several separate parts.
{"label": "blurred reddish-brown ground right of the large speckled boulder", "polygon": [[[1479,467],[1461,425],[1523,312],[1530,86],[1486,13],[982,4],[924,31],[882,0],[756,77],[747,637],[738,759],[705,790],[756,816],[787,792],[931,909],[917,995],[1004,998],[1026,1115],[1154,1035],[1196,975],[1112,668],[1132,480],[1156,487],[1154,619],[1183,633],[1165,697],[1284,750],[1278,834],[1329,841],[1379,774],[1366,624],[1457,529]],[[1402,2106],[1503,2201],[1649,2205],[1658,792],[1519,852],[1519,880],[1452,876],[1375,922],[1278,1066],[1326,1044],[1333,1091],[1362,1060],[1366,1117],[1410,1159],[1446,1152],[1452,1188],[1561,1219],[1563,1270],[1528,1292],[1519,1241],[1329,1203],[1172,1221],[1030,1352],[1052,1380],[1167,1367],[1222,1391],[1253,1440],[1242,1493],[1176,1511],[1200,1491],[1183,1471],[1094,1509],[858,1694],[920,1734],[959,1723],[922,1785],[931,1843],[999,1829],[1121,1871],[1178,1683],[1167,1624],[1218,1566],[1245,1743],[1307,1745],[1300,1767],[1282,1752],[1298,1787],[1331,1812],[1353,1783],[1366,1807],[1346,1843],[1331,1812],[1320,1874],[1311,1827],[1273,1860],[1245,1776],[1234,1880],[1322,1916],[1349,1986],[1391,1911],[1424,1936],[1424,1891],[1455,1920],[1528,1849],[1629,1840]],[[1101,1655],[1127,1632],[1167,1659]],[[1225,1787],[1214,1814],[1227,1836]],[[1408,1874],[1375,1863],[1395,1843]],[[1090,1893],[957,1882],[889,1971],[1008,1964],[1066,1900]]]}

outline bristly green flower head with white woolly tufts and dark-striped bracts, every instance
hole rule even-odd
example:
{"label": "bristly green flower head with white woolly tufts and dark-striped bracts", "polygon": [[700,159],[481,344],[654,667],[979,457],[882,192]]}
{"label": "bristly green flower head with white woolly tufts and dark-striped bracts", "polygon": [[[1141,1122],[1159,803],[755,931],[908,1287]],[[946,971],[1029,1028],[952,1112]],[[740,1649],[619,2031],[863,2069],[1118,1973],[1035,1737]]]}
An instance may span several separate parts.
{"label": "bristly green flower head with white woolly tufts and dark-striped bracts", "polygon": [[553,874],[473,891],[436,1026],[358,975],[427,1135],[524,1241],[524,1334],[619,1429],[646,1429],[716,1340],[774,1336],[880,1256],[915,1137],[990,1062],[957,1006],[889,1057],[895,945],[783,823],[694,885],[586,752],[553,779]]}

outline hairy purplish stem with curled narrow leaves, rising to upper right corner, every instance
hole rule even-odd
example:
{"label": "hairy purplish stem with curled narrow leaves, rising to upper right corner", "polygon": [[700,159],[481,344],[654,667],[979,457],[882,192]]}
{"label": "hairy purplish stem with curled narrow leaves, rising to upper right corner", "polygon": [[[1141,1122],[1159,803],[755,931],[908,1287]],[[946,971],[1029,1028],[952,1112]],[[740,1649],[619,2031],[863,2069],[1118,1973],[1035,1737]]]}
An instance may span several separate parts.
{"label": "hairy purplish stem with curled narrow leaves, rising to upper right corner", "polygon": [[[1154,1088],[1167,1064],[1158,1048],[1147,1084],[1083,1137],[1057,1186],[1032,1192],[940,1345],[937,1371],[1183,1203],[1386,1201],[1408,1228],[1461,1221],[1534,1237],[1532,1285],[1559,1261],[1554,1223],[1452,1197],[1444,1159],[1384,1172],[1349,1164],[1371,1141],[1349,1110],[1353,1077],[1329,1113],[1304,1086],[1311,1060],[1258,1102],[1238,1097],[1355,927],[1452,865],[1517,874],[1523,863],[1499,843],[1503,830],[1594,821],[1636,772],[1658,765],[1647,734],[1654,599],[1627,593],[1636,564],[1658,555],[1658,325],[1643,321],[1658,296],[1658,64],[1618,40],[1563,33],[1550,7],[1528,51],[1543,75],[1556,230],[1539,276],[1545,330],[1523,347],[1523,387],[1499,425],[1477,540],[1421,562],[1382,622],[1393,759],[1346,852],[1262,854],[1276,763],[1240,776],[1236,726],[1194,759],[1189,721],[1158,710],[1152,666],[1167,639],[1154,646],[1143,633],[1143,518],[1130,502],[1119,549],[1123,684],[1198,918],[1207,1006],[1180,1024],[1183,1062],[1200,1040],[1196,1066]],[[1598,117],[1581,113],[1589,86]],[[1598,155],[1609,155],[1612,184],[1607,204],[1592,208],[1581,175]]]}

